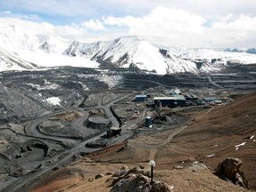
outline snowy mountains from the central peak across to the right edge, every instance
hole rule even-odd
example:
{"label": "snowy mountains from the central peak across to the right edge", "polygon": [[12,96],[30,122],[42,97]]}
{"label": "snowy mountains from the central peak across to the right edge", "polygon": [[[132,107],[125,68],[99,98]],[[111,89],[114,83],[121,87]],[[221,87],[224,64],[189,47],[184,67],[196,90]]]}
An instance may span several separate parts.
{"label": "snowy mountains from the central peak across to the right edge", "polygon": [[161,49],[137,36],[93,44],[75,41],[63,53],[95,60],[101,68],[140,68],[157,74],[209,73],[218,72],[230,64],[256,63],[255,55],[211,49]]}

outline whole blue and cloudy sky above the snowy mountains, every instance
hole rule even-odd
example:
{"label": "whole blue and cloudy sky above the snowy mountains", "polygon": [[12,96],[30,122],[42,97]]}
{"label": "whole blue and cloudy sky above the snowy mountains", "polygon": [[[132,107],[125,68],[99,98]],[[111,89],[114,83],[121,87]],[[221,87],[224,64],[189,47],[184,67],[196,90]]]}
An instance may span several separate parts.
{"label": "whole blue and cloudy sky above the snowy mountains", "polygon": [[0,0],[0,19],[92,43],[140,36],[180,48],[256,47],[254,0]]}

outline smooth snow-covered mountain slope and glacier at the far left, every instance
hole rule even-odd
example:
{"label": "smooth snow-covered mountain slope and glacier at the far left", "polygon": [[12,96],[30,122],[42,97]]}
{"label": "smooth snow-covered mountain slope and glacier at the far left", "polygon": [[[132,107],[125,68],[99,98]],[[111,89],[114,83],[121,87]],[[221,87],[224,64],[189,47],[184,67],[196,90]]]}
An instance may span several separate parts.
{"label": "smooth snow-covered mountain slope and glacier at the far left", "polygon": [[[0,46],[3,52],[9,52],[8,58],[2,56],[0,71],[22,69],[15,68],[17,61],[20,66],[28,60],[38,67],[74,66],[86,68],[98,68],[99,64],[84,58],[70,58],[62,54],[71,40],[60,38],[59,36],[49,36],[34,28],[24,28],[22,25],[14,25],[0,20]],[[13,55],[13,58],[12,56]],[[15,60],[15,61],[14,61]],[[28,69],[25,67],[23,69]],[[35,68],[35,67],[34,67]]]}

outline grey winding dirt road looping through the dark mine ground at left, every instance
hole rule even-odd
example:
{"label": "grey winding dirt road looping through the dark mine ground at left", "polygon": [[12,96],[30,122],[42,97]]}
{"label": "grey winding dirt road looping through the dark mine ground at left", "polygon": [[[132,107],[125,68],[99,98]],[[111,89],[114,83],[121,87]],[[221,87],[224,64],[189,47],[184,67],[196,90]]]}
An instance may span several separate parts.
{"label": "grey winding dirt road looping through the dark mine ground at left", "polygon": [[[103,108],[104,109],[106,115],[112,121],[113,126],[119,126],[119,123],[118,123],[118,121],[116,120],[116,117],[112,114],[112,112],[110,111],[109,108],[111,106],[113,106],[115,104],[115,102],[117,102],[118,100],[124,100],[124,98],[126,98],[126,97],[128,97],[132,94],[133,93],[127,94],[124,97],[113,100],[112,102],[110,102],[106,105],[102,105],[102,98],[100,98],[100,100],[98,101],[98,108]],[[67,111],[68,109],[66,109],[65,111]],[[75,109],[75,108],[72,108],[72,109]],[[54,114],[51,114],[51,116],[52,115],[54,115]],[[57,140],[57,141],[76,144],[77,143],[76,140],[71,140],[71,139],[67,139],[67,138],[60,138],[60,137],[57,137],[57,136],[44,135],[41,132],[37,131],[36,126],[38,124],[40,124],[40,122],[44,121],[44,119],[48,118],[49,116],[43,116],[43,117],[40,117],[40,118],[30,122],[26,127],[27,134],[28,135],[31,134],[30,136],[31,137],[36,137],[36,139]],[[18,180],[15,180],[11,185],[4,188],[3,191],[12,191],[12,192],[26,191],[31,186],[31,183],[38,180],[38,178],[42,174],[51,171],[54,167],[58,167],[58,166],[61,166],[63,164],[66,164],[76,154],[79,154],[80,152],[83,152],[85,154],[86,153],[92,153],[93,151],[99,150],[100,148],[86,148],[84,146],[87,142],[92,142],[93,140],[100,139],[100,137],[103,136],[104,134],[105,134],[105,132],[100,132],[98,135],[94,135],[91,138],[88,138],[87,140],[84,140],[84,141],[80,142],[75,147],[70,148],[70,149],[66,150],[65,152],[60,153],[56,156],[52,156],[52,158],[46,159],[45,161],[52,160],[52,164],[50,164],[50,165],[47,164],[47,166],[46,165],[42,166],[43,168],[41,170],[37,170],[36,172],[29,173],[29,174],[24,175],[23,177],[20,177]],[[122,140],[120,139],[119,141],[122,141]]]}

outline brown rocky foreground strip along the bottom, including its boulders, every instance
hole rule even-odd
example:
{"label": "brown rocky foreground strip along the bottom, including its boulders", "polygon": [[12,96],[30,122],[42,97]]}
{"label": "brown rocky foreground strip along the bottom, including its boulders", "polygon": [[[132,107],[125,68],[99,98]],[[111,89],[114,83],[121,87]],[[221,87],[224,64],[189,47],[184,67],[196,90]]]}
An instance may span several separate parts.
{"label": "brown rocky foreground strip along the bottom, including its boulders", "polygon": [[[228,163],[227,163],[228,162]],[[248,191],[243,172],[239,171],[242,161],[228,158],[212,171],[202,162],[187,166],[175,166],[172,170],[155,171],[151,183],[149,168],[137,165],[132,169],[123,165],[116,172],[101,172],[92,177],[88,172],[74,166],[60,168],[47,183],[32,191],[110,191],[110,192],[173,192],[173,191]],[[100,164],[95,164],[95,168]],[[113,168],[113,164],[105,164]],[[50,181],[51,180],[51,181]],[[233,180],[233,181],[232,181]],[[233,182],[233,183],[232,183]]]}

